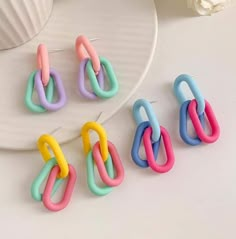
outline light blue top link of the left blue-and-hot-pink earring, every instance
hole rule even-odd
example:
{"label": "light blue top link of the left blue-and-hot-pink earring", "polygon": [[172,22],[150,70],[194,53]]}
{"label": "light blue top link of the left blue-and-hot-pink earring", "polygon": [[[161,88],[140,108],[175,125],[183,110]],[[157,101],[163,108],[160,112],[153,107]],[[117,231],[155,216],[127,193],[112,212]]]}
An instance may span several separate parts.
{"label": "light blue top link of the left blue-and-hot-pink earring", "polygon": [[152,109],[152,105],[147,100],[144,100],[144,99],[137,100],[133,106],[133,116],[136,121],[136,124],[140,125],[142,122],[145,121],[142,119],[142,116],[140,114],[140,109],[142,107],[145,109],[147,117],[150,121],[150,126],[152,127],[152,132],[153,132],[152,140],[154,142],[157,142],[161,136],[161,129],[160,129],[158,120],[156,118],[155,112]]}

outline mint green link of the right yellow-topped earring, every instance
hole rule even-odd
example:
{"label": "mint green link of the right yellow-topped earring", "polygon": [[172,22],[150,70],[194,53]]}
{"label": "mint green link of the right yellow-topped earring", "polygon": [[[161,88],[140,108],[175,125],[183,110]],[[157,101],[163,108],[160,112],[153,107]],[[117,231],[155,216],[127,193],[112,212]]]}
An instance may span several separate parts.
{"label": "mint green link of the right yellow-topped earring", "polygon": [[[108,175],[111,178],[114,178],[115,176],[114,168],[113,168],[113,163],[112,163],[112,159],[110,155],[108,156],[106,162],[104,163],[105,163]],[[112,187],[109,187],[109,186],[98,187],[95,183],[95,177],[94,177],[95,163],[93,160],[92,150],[87,155],[86,164],[87,164],[87,183],[88,183],[89,189],[97,196],[104,196],[110,193],[112,191]]]}

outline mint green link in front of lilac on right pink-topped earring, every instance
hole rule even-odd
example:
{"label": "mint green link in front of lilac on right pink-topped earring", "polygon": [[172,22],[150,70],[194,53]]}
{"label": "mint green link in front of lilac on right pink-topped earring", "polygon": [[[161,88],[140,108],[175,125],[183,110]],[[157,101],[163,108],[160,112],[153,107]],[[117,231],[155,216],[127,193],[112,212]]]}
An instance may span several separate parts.
{"label": "mint green link in front of lilac on right pink-topped earring", "polygon": [[88,78],[90,80],[91,87],[92,87],[94,93],[98,97],[103,98],[103,99],[111,98],[111,97],[115,96],[119,90],[118,80],[117,80],[116,74],[113,70],[111,63],[105,57],[100,57],[99,59],[100,59],[101,65],[104,67],[104,70],[106,71],[107,79],[109,82],[109,90],[107,90],[107,91],[103,90],[99,86],[97,77],[94,73],[94,69],[93,69],[91,60],[89,60],[86,65]]}

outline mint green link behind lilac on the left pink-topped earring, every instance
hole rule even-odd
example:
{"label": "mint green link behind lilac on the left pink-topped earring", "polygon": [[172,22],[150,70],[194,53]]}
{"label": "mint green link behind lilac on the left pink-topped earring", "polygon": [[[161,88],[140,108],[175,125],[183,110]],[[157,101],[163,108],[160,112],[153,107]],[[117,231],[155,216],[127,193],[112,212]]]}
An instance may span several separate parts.
{"label": "mint green link behind lilac on the left pink-topped earring", "polygon": [[[36,113],[44,113],[47,110],[41,106],[37,105],[32,101],[33,91],[34,91],[34,79],[35,75],[37,73],[37,70],[32,72],[29,76],[27,88],[26,88],[26,94],[25,94],[25,105],[27,108],[33,112]],[[49,102],[53,101],[53,94],[54,94],[54,80],[50,77],[48,85],[46,87],[46,98]]]}

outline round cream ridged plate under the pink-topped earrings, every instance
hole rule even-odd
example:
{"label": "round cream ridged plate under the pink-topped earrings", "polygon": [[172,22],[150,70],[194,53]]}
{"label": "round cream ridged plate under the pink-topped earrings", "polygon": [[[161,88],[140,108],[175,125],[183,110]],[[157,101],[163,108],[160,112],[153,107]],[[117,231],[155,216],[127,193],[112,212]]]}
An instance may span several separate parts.
{"label": "round cream ridged plate under the pink-topped earrings", "polygon": [[[0,52],[0,148],[36,148],[41,134],[53,133],[60,143],[80,134],[86,121],[104,123],[131,97],[144,80],[157,40],[157,15],[153,0],[67,0],[55,1],[44,30],[27,44]],[[117,96],[91,102],[76,89],[78,60],[75,38],[84,34],[94,42],[99,55],[113,64],[120,84]],[[36,68],[37,45],[49,50],[51,66],[60,73],[68,97],[58,112],[34,114],[24,105],[29,74]],[[121,122],[121,124],[124,122]],[[114,127],[119,127],[115,125]]]}

